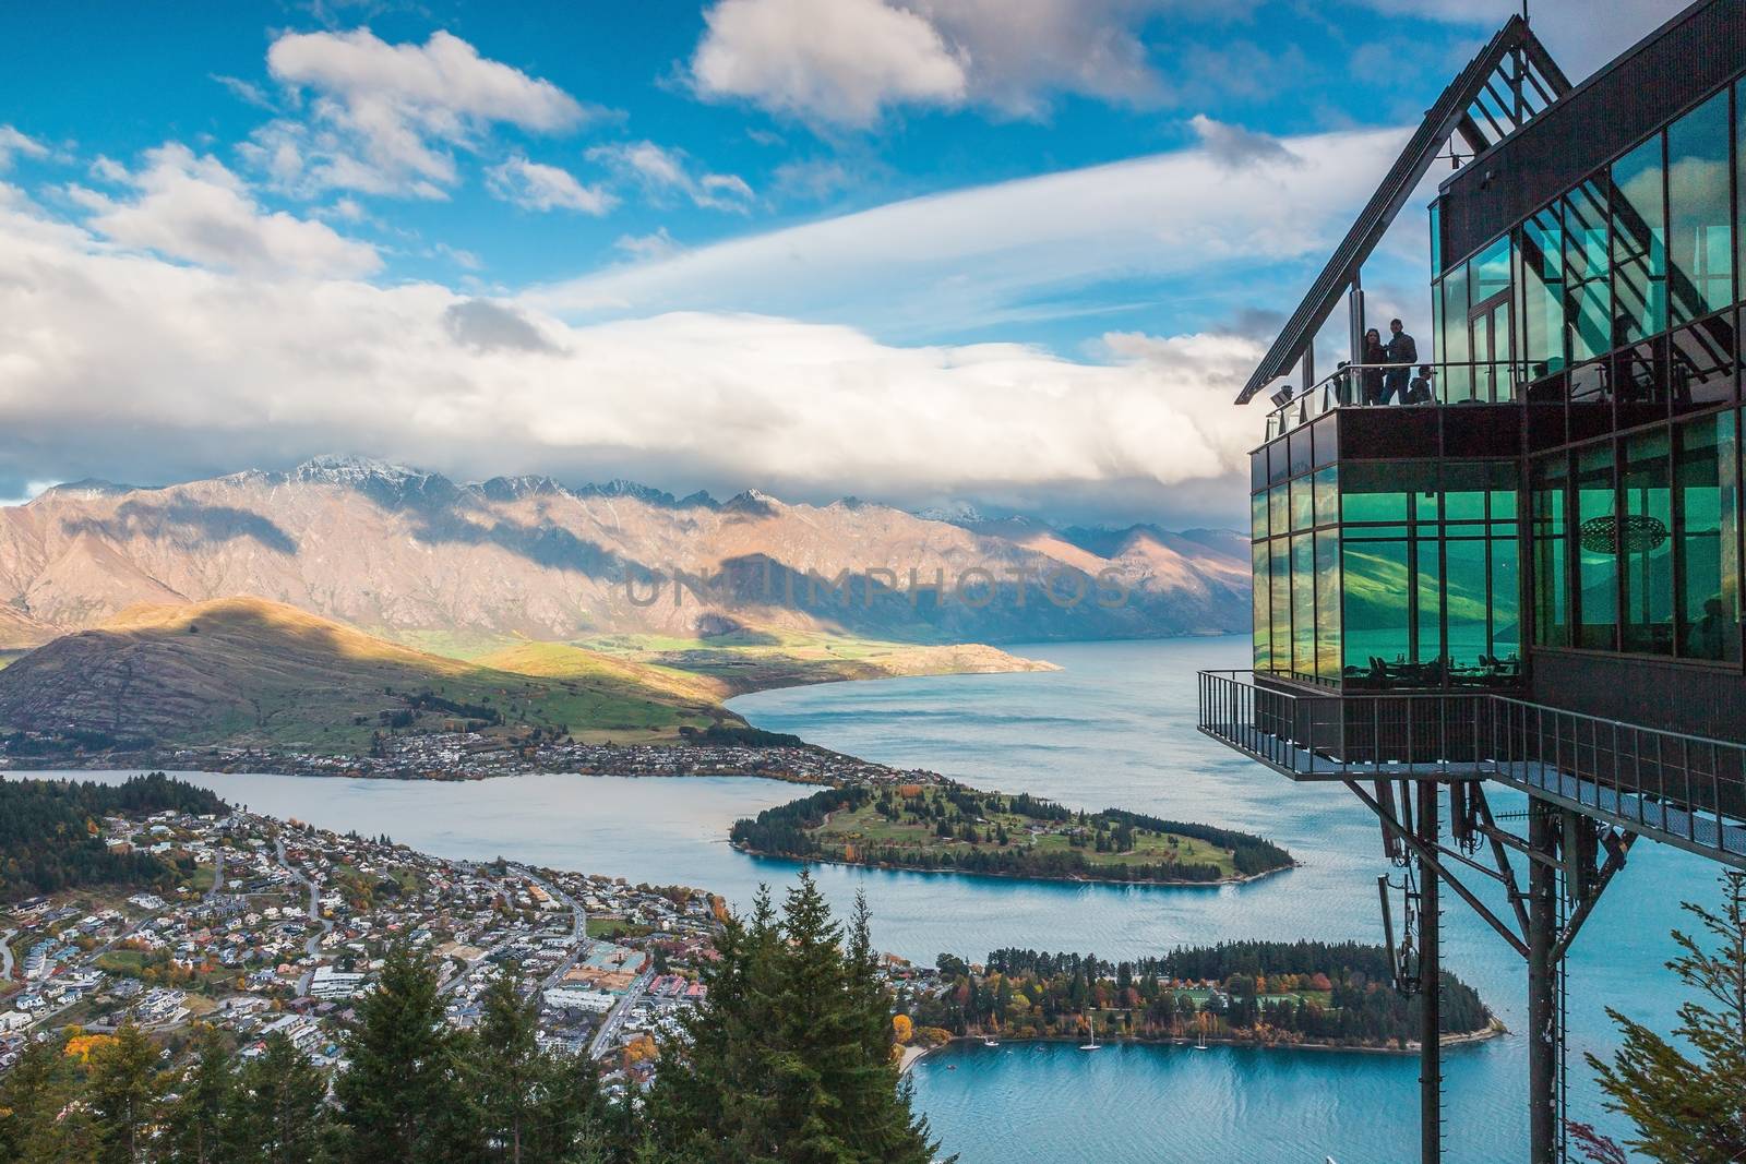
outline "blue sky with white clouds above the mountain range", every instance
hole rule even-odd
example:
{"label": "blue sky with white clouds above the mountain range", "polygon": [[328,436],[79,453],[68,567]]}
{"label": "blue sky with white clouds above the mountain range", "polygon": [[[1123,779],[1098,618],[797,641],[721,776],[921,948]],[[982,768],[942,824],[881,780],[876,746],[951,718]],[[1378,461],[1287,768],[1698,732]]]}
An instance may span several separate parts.
{"label": "blue sky with white clouds above the mountain range", "polygon": [[[1234,513],[1231,382],[1512,9],[12,5],[0,497],[347,448]],[[1582,75],[1673,10],[1535,21]]]}

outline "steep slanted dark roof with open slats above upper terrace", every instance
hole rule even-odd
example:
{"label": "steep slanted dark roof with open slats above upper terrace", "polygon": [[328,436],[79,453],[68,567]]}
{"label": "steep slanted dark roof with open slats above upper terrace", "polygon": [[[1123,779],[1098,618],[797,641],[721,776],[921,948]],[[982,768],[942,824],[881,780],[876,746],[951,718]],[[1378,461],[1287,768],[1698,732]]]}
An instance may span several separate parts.
{"label": "steep slanted dark roof with open slats above upper terrace", "polygon": [[1236,403],[1247,405],[1255,393],[1290,372],[1303,358],[1341,295],[1351,286],[1364,260],[1381,243],[1407,197],[1437,161],[1444,141],[1461,134],[1474,154],[1482,154],[1566,92],[1570,79],[1528,28],[1528,21],[1512,16],[1425,112],[1418,133],[1400,150],[1388,176],[1327,260],[1327,267],[1310,284],[1304,302],[1287,319]]}

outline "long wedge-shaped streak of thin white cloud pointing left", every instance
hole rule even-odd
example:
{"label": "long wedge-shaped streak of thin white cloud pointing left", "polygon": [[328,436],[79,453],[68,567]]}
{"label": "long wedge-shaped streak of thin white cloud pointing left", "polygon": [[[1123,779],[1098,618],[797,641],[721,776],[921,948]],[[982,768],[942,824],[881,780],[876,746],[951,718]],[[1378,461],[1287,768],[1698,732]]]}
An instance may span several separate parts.
{"label": "long wedge-shaped streak of thin white cloud pointing left", "polygon": [[1318,134],[1283,141],[1290,159],[1240,168],[1191,148],[973,187],[588,274],[529,300],[571,318],[760,311],[885,339],[1098,311],[1135,281],[1173,281],[1191,302],[1236,284],[1240,305],[1254,305],[1278,277],[1271,265],[1332,248],[1404,140]]}

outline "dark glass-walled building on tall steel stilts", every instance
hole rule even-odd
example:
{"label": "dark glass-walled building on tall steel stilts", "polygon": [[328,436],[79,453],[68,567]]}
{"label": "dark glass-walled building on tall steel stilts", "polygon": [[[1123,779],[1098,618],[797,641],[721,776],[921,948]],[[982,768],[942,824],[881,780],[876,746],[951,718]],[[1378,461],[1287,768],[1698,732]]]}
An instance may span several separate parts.
{"label": "dark glass-walled building on tall steel stilts", "polygon": [[[1439,166],[1430,335],[1365,361],[1388,321],[1364,264]],[[1631,845],[1746,867],[1743,302],[1746,3],[1694,3],[1577,86],[1512,17],[1238,398],[1271,408],[1254,665],[1201,675],[1201,729],[1378,813],[1402,988],[1437,981],[1440,888],[1523,953],[1536,1164],[1564,1148],[1563,953]],[[1318,377],[1318,349],[1351,356]],[[1496,785],[1529,798],[1521,836]],[[1435,1161],[1433,1045],[1425,1075]]]}

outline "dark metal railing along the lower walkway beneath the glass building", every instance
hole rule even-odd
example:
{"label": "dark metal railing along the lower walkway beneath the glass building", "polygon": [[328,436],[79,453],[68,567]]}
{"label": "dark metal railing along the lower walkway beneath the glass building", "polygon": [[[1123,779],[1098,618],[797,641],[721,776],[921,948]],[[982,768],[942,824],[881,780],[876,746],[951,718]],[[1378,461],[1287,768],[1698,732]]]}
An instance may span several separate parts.
{"label": "dark metal railing along the lower walkway beneath the glass building", "polygon": [[1294,780],[1498,780],[1746,869],[1746,745],[1489,693],[1316,695],[1200,674],[1200,729]]}

